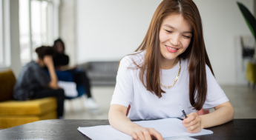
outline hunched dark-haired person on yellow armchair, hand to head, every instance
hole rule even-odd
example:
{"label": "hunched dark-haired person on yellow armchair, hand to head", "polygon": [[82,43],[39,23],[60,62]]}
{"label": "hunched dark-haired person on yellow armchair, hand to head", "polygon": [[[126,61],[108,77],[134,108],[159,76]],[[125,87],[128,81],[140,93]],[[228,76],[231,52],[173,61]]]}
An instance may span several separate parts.
{"label": "hunched dark-haired person on yellow armchair, hand to head", "polygon": [[[58,79],[53,66],[53,47],[38,47],[38,59],[30,61],[23,68],[13,89],[13,98],[19,101],[56,97],[57,116],[62,119],[64,111],[64,90],[58,87]],[[50,78],[43,67],[47,67]]]}

